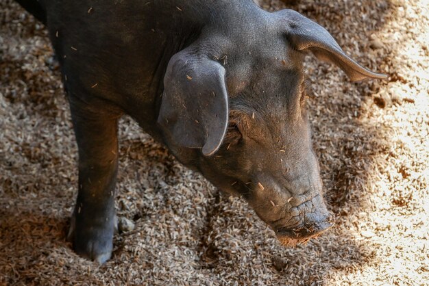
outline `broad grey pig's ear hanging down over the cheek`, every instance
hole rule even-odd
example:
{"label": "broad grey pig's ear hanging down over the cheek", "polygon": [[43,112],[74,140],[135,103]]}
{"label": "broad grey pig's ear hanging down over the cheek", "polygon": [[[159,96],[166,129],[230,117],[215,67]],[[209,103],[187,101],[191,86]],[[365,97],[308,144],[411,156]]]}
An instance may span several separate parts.
{"label": "broad grey pig's ear hanging down over the cheek", "polygon": [[228,128],[225,68],[206,55],[181,51],[164,77],[158,124],[169,145],[215,153]]}

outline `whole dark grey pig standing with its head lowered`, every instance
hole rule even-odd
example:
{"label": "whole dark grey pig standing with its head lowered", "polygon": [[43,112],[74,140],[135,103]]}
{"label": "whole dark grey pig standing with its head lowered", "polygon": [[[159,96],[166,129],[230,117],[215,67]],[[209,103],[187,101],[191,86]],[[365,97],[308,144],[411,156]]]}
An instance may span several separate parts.
{"label": "whole dark grey pig standing with its head lowered", "polygon": [[79,148],[69,238],[103,263],[115,226],[117,123],[129,114],[185,166],[243,196],[284,244],[332,226],[305,108],[304,52],[384,78],[292,10],[251,0],[19,1],[46,23]]}

